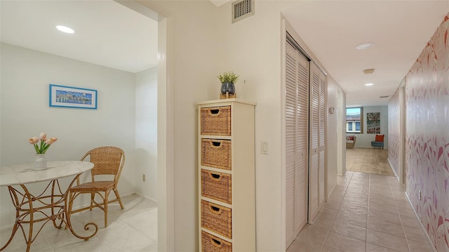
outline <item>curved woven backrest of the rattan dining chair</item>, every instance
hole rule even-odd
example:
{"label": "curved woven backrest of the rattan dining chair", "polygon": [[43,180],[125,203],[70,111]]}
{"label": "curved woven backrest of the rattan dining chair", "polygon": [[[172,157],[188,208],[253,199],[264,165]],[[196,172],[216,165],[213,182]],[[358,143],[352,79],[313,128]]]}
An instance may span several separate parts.
{"label": "curved woven backrest of the rattan dining chair", "polygon": [[95,175],[114,175],[114,181],[118,183],[123,164],[125,164],[125,152],[119,147],[102,146],[89,150],[81,158],[81,161],[89,157],[94,164],[91,175],[95,181]]}

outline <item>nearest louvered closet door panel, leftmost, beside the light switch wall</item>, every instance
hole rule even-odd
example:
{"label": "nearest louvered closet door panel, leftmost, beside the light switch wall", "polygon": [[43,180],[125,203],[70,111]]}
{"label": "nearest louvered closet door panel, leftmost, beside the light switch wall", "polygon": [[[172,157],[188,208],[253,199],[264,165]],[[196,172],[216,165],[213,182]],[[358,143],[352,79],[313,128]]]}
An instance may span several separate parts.
{"label": "nearest louvered closet door panel, leftmost, beside the light switch wall", "polygon": [[307,223],[309,61],[286,43],[286,247]]}

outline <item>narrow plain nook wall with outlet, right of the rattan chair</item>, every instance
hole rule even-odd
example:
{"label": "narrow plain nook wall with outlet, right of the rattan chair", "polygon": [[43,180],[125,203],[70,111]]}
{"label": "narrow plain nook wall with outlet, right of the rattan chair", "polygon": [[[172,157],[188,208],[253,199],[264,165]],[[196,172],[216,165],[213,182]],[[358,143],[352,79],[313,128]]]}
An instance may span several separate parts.
{"label": "narrow plain nook wall with outlet, right of the rattan chair", "polygon": [[[157,68],[135,77],[135,191],[157,198]],[[145,174],[145,182],[142,181]]]}

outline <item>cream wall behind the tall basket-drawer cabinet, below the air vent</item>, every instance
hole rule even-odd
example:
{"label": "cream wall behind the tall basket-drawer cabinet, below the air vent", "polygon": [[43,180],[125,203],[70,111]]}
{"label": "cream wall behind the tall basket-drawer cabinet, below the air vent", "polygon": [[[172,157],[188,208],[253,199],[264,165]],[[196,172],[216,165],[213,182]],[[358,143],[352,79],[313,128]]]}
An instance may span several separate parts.
{"label": "cream wall behind the tall basket-drawer cabinet, below the air vent", "polygon": [[[196,232],[198,115],[195,103],[216,100],[220,91],[216,77],[220,72],[231,70],[240,75],[236,84],[238,98],[257,102],[256,150],[260,150],[261,141],[269,142],[269,154],[262,155],[256,151],[255,157],[257,251],[282,251],[285,240],[282,236],[281,48],[285,37],[281,37],[281,11],[296,3],[256,1],[256,15],[234,24],[231,22],[230,2],[220,7],[210,1],[140,3],[168,17],[168,51],[173,46],[174,53],[163,59],[167,64],[173,64],[173,75],[167,74],[167,82],[168,92],[173,91],[174,99],[175,157],[173,173],[169,171],[163,177],[167,181],[168,197],[170,183],[174,187],[173,199],[167,199],[166,204],[170,206],[173,200],[174,223],[168,221],[168,225],[173,224],[173,227],[163,230],[164,241],[170,243],[173,239],[175,251],[196,251],[199,248]],[[173,30],[170,22],[173,22]],[[169,68],[167,70],[170,71]],[[171,98],[169,94],[163,95]],[[170,122],[170,118],[166,120]],[[168,130],[170,127],[167,125]],[[171,150],[170,146],[167,150]],[[169,166],[170,157],[165,158]],[[166,209],[166,218],[170,218],[170,211]],[[170,228],[174,230],[174,237],[170,236]]]}

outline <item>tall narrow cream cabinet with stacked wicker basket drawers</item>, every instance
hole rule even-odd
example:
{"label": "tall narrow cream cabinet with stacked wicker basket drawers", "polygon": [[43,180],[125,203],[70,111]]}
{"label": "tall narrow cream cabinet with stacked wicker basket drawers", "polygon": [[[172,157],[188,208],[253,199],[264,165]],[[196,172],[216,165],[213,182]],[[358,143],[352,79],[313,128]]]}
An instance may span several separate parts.
{"label": "tall narrow cream cabinet with stacked wicker basket drawers", "polygon": [[199,102],[200,251],[255,251],[255,103]]}

